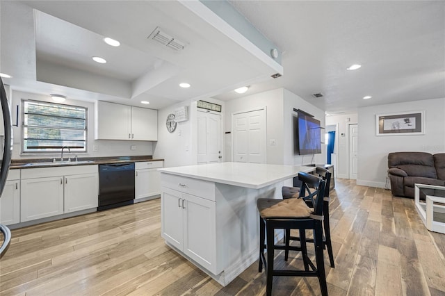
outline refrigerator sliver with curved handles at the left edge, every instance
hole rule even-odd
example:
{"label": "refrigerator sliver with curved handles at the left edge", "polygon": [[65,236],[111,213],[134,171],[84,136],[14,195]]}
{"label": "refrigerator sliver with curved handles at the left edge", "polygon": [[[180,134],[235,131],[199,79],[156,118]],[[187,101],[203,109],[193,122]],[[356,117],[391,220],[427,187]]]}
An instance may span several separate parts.
{"label": "refrigerator sliver with curved handles at the left edge", "polygon": [[[8,177],[9,166],[11,163],[11,153],[13,151],[12,138],[13,131],[11,128],[11,118],[8,108],[8,98],[6,97],[5,88],[3,86],[3,81],[0,78],[0,101],[1,101],[1,113],[0,116],[3,117],[3,131],[4,135],[0,135],[0,197],[3,192],[3,188],[6,183],[6,178]],[[5,225],[0,224],[0,231],[3,233],[3,242],[1,242],[0,247],[0,258],[6,253],[11,241],[11,232]]]}

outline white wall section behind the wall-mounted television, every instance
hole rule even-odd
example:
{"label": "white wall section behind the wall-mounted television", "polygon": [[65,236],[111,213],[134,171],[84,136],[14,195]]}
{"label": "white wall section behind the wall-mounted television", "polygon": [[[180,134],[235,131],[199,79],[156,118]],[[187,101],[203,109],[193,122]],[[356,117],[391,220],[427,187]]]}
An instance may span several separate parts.
{"label": "white wall section behind the wall-mounted television", "polygon": [[[284,131],[284,145],[283,145],[283,164],[284,165],[307,165],[309,163],[326,163],[326,145],[321,145],[321,154],[312,155],[294,155],[293,154],[293,136],[295,131],[293,131],[293,116],[296,113],[293,108],[300,109],[314,115],[316,120],[320,120],[320,125],[325,127],[325,111],[307,101],[298,97],[298,95],[284,89],[284,104],[283,104],[283,131]],[[324,129],[321,130],[324,136]],[[322,142],[323,139],[322,139]]]}

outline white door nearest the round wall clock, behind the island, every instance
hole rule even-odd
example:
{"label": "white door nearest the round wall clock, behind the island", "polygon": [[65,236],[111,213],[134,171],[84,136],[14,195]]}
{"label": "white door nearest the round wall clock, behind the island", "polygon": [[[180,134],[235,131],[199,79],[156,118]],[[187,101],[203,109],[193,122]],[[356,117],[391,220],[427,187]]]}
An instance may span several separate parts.
{"label": "white door nearest the round wall clock, behind the island", "polygon": [[197,112],[197,163],[220,163],[221,115]]}

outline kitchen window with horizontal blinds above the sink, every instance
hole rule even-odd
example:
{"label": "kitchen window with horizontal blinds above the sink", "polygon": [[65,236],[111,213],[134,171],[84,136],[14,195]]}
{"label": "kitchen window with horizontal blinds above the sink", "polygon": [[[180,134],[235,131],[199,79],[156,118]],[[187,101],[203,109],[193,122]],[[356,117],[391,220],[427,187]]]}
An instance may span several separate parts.
{"label": "kitchen window with horizontal blinds above the sink", "polygon": [[24,101],[23,152],[86,152],[87,108]]}

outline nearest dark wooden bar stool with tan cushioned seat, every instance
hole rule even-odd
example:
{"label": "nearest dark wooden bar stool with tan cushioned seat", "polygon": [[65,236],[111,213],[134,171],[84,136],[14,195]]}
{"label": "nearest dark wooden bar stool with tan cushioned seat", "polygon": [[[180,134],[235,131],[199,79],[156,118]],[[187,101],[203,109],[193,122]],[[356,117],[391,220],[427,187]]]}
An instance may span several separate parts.
{"label": "nearest dark wooden bar stool with tan cushioned seat", "polygon": [[[266,294],[272,295],[274,276],[286,277],[318,277],[321,294],[327,295],[325,265],[323,261],[323,197],[325,181],[312,174],[300,172],[298,179],[302,181],[299,197],[314,200],[314,208],[309,208],[302,198],[292,199],[258,199],[259,211],[259,268],[266,268]],[[300,247],[275,245],[275,229],[298,229],[300,231]],[[314,247],[316,265],[307,256],[305,231],[314,231]],[[265,242],[266,239],[266,242]],[[305,270],[274,270],[273,258],[275,249],[298,249],[302,252]],[[267,250],[267,260],[264,255]],[[309,267],[311,270],[309,270]]]}

